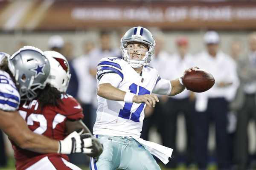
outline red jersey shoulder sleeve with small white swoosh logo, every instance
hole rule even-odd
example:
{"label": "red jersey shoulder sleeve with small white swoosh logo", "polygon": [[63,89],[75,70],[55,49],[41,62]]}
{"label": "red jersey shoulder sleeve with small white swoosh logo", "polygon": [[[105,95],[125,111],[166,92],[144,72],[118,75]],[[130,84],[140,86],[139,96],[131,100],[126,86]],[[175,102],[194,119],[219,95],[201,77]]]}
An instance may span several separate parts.
{"label": "red jersey shoulder sleeve with small white swoosh logo", "polygon": [[66,116],[67,119],[78,120],[83,119],[83,109],[79,102],[70,95],[64,95],[61,104],[61,114]]}

